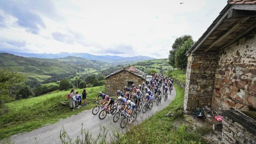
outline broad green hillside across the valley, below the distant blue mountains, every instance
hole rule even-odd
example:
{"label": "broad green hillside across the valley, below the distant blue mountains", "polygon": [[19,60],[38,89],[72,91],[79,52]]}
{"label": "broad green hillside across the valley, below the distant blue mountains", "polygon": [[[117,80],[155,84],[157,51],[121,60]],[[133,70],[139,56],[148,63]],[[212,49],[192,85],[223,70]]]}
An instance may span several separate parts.
{"label": "broad green hillside across the valley, below the distant blue mountains", "polygon": [[56,82],[77,74],[99,72],[109,66],[111,66],[109,63],[72,56],[59,59],[40,59],[0,53],[0,68],[9,68],[26,75],[29,85],[36,85],[46,79],[49,82]]}

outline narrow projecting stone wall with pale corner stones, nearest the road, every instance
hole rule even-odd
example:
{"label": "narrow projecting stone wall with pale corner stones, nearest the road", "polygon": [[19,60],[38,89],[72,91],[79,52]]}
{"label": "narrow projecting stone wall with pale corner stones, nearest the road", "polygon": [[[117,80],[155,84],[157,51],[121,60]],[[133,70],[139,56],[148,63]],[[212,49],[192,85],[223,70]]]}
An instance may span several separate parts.
{"label": "narrow projecting stone wall with pale corner stones, nearest the road", "polygon": [[192,53],[188,56],[184,110],[211,106],[214,76],[217,66],[216,53]]}

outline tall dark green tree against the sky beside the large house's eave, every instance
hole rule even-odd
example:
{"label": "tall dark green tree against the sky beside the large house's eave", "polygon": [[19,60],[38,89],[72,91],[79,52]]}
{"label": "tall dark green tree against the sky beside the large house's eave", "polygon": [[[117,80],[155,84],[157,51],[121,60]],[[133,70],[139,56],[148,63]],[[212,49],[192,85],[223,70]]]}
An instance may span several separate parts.
{"label": "tall dark green tree against the sky beside the large house's eave", "polygon": [[[169,60],[168,60],[168,64],[169,65],[171,65],[171,66],[173,66],[173,67],[176,67],[176,68],[180,68],[180,69],[183,69],[184,71],[185,71],[185,69],[184,69],[184,67],[183,67],[183,65],[179,65],[178,63],[181,63],[181,62],[177,62],[177,58],[176,58],[176,56],[178,56],[178,54],[176,54],[176,52],[179,50],[179,48],[180,47],[182,47],[182,45],[186,42],[186,41],[193,41],[193,39],[192,39],[192,36],[190,36],[190,35],[183,35],[183,36],[181,36],[181,37],[179,37],[179,38],[176,38],[176,40],[175,40],[175,42],[173,43],[173,45],[172,45],[172,50],[170,50],[169,51]],[[194,43],[194,42],[193,42]],[[192,44],[193,45],[193,44]],[[191,45],[191,46],[192,46]],[[179,50],[179,53],[181,52],[182,50]],[[185,52],[186,53],[186,52]],[[184,53],[184,58],[187,58],[186,56],[185,56],[185,53]],[[181,57],[181,55],[179,55],[180,57]],[[186,62],[187,63],[187,62]],[[181,66],[181,67],[180,67]],[[186,66],[185,66],[185,68],[186,68]],[[183,71],[183,72],[184,72]]]}

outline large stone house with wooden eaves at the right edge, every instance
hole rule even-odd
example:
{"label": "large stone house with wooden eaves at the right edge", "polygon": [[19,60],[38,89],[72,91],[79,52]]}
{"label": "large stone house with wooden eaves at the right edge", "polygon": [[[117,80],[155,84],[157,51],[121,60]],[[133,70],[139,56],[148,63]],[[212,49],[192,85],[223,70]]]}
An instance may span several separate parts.
{"label": "large stone house with wooden eaves at the right edge", "polygon": [[184,111],[214,107],[222,140],[256,143],[256,0],[228,0],[188,50]]}

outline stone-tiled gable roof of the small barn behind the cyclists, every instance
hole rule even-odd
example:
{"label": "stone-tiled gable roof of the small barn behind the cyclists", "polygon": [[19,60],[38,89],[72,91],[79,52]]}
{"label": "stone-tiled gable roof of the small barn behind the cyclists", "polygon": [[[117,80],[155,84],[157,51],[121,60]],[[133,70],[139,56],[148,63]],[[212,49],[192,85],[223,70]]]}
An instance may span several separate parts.
{"label": "stone-tiled gable roof of the small barn behind the cyclists", "polygon": [[119,70],[111,73],[110,75],[106,76],[105,79],[111,77],[112,75],[120,73],[122,71],[127,71],[127,72],[130,72],[130,73],[138,76],[138,77],[141,77],[142,79],[146,79],[146,74],[143,71],[135,68],[134,66],[127,66],[125,68],[119,69]]}

